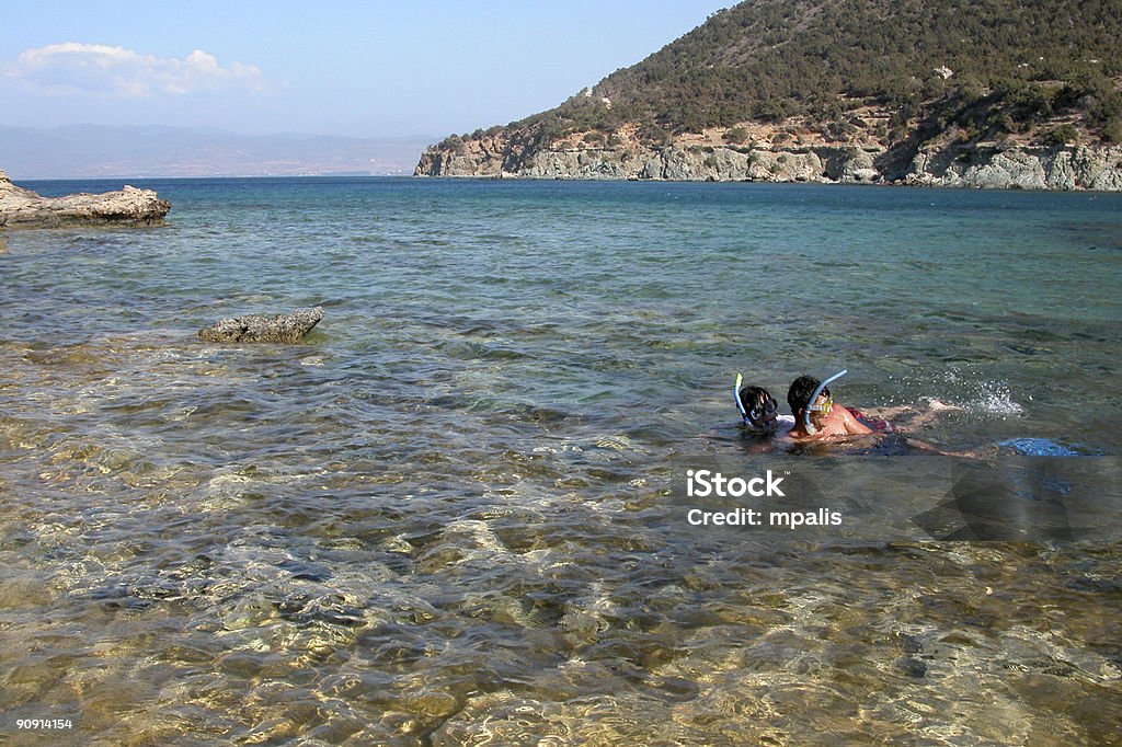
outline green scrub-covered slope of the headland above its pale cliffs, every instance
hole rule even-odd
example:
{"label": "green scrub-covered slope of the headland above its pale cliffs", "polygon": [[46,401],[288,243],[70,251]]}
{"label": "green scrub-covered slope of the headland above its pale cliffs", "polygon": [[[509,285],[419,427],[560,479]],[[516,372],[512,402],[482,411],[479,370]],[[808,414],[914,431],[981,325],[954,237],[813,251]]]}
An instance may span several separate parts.
{"label": "green scrub-covered slope of the headland above its pale cliffs", "polygon": [[1120,49],[1118,0],[747,0],[555,109],[434,151],[754,144],[760,126],[882,149],[1119,144]]}

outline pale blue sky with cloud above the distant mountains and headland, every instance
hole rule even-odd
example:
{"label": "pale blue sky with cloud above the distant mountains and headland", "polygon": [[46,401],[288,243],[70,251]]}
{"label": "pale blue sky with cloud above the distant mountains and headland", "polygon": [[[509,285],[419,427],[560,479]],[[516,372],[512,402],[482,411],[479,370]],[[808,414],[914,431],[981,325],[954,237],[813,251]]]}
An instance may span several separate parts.
{"label": "pale blue sky with cloud above the distant mountains and headland", "polygon": [[551,109],[734,0],[0,0],[0,125],[470,132]]}

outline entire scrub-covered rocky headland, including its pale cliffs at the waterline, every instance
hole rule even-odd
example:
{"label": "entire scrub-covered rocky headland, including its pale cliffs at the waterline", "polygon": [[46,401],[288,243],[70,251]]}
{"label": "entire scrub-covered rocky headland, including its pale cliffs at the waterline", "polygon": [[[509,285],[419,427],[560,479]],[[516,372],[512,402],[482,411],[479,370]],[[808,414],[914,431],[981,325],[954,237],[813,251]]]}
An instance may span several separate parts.
{"label": "entire scrub-covered rocky headland, including its pale cliffs at the waterline", "polygon": [[1114,0],[748,0],[423,176],[1122,190]]}

